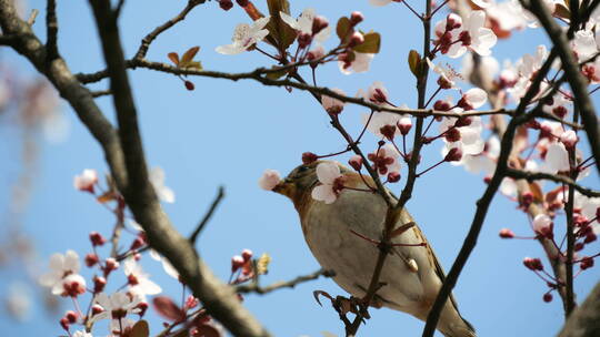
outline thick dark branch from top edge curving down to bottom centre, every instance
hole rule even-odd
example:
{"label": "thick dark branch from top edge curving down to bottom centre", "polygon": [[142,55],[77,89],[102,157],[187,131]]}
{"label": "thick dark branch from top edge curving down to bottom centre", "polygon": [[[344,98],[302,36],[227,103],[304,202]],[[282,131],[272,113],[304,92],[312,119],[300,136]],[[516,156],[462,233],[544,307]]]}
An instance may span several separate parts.
{"label": "thick dark branch from top edge curving down to bottom centre", "polygon": [[269,336],[241,306],[231,287],[221,284],[199,259],[189,241],[172,227],[148,180],[137,111],[126,72],[117,21],[109,0],[90,0],[110,76],[110,90],[124,154],[127,184],[119,186],[149,244],[163,254],[207,310],[234,336]]}

